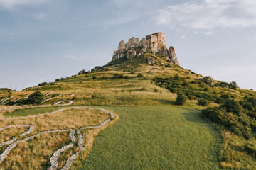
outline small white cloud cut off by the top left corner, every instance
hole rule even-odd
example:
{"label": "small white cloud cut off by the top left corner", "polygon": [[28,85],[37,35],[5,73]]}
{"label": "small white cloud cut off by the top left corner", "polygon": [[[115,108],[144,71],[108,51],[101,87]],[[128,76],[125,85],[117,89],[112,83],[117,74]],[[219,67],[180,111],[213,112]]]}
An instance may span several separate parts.
{"label": "small white cloud cut off by the top left corner", "polygon": [[46,1],[49,1],[49,0],[0,0],[0,7],[6,8],[6,9],[11,9],[14,6],[38,5],[38,4],[43,4]]}

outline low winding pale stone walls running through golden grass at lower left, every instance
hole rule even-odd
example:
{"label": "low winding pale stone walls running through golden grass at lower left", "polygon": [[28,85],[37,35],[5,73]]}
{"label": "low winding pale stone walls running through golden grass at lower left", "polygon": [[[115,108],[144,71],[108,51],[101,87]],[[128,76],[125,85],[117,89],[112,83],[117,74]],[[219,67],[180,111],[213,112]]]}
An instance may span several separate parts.
{"label": "low winding pale stone walls running through golden grass at lower left", "polygon": [[[102,108],[89,108],[89,107],[73,107],[73,108],[87,108],[89,110],[99,110],[99,111],[103,111],[104,113],[110,115],[110,118],[107,118],[107,120],[105,120],[104,122],[100,123],[99,125],[96,125],[96,126],[86,126],[86,127],[82,127],[80,128],[79,130],[77,130],[77,135],[78,135],[78,146],[79,146],[79,151],[76,152],[75,154],[71,155],[71,157],[69,157],[66,161],[66,164],[65,166],[63,166],[63,170],[68,170],[70,169],[70,166],[73,164],[73,160],[76,159],[76,157],[78,157],[78,154],[81,152],[81,151],[85,151],[85,146],[83,145],[83,142],[84,142],[84,137],[82,136],[82,132],[81,130],[84,130],[84,129],[94,129],[94,128],[100,128],[102,127],[103,125],[106,125],[107,123],[110,122],[111,118],[114,118],[114,114],[113,113],[110,113],[109,111],[105,111],[104,109]],[[59,109],[58,111],[65,111],[65,110],[68,110],[68,109],[73,109],[73,108],[63,108],[63,109]],[[29,117],[38,117],[40,115],[49,115],[49,114],[53,114],[53,113],[56,113],[58,111],[53,111],[53,112],[50,112],[50,113],[45,113],[45,114],[39,114],[39,115],[30,115],[30,116],[26,116],[26,117],[18,117],[18,118],[0,118],[0,119],[6,119],[6,120],[15,120],[15,119],[21,119],[21,118],[29,118]],[[34,126],[33,125],[11,125],[11,126],[6,126],[4,128],[0,128],[0,130],[4,130],[6,128],[13,128],[13,127],[17,127],[17,126],[23,126],[23,127],[30,127],[29,130],[27,132],[24,132],[23,134],[21,134],[21,136],[25,136],[25,135],[28,135],[29,133],[33,132],[33,129],[34,129]],[[11,144],[9,145],[9,147],[7,147],[4,152],[0,155],[0,164],[1,162],[4,161],[4,159],[8,156],[9,152],[11,152],[11,149],[13,149],[14,147],[16,147],[16,145],[18,145],[18,143],[20,142],[26,142],[27,140],[31,140],[32,138],[34,137],[37,137],[39,135],[43,135],[43,134],[46,134],[46,133],[53,133],[53,132],[68,132],[70,131],[70,140],[71,142],[68,144],[68,145],[65,145],[64,147],[58,149],[56,152],[54,152],[53,156],[50,157],[50,170],[55,170],[58,168],[58,157],[59,155],[61,154],[61,152],[64,152],[66,149],[70,148],[70,147],[73,147],[73,145],[75,144],[75,140],[76,140],[76,137],[75,137],[75,130],[73,129],[67,129],[67,130],[51,130],[51,131],[44,131],[44,132],[39,132],[38,134],[36,135],[32,135],[32,136],[29,136],[29,137],[26,137],[22,140],[18,140],[16,141],[17,137],[14,137],[12,140],[9,140],[7,141],[8,143],[6,144],[3,144],[3,145],[7,145],[7,144]],[[16,142],[14,142],[16,141]],[[0,147],[1,147],[1,144],[0,144]]]}

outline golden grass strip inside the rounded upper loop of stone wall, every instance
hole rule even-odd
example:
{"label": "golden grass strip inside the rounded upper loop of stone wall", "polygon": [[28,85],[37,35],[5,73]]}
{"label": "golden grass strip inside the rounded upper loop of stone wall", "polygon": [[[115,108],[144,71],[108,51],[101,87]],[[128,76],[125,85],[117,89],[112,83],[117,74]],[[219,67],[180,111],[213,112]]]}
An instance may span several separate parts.
{"label": "golden grass strip inside the rounded upper loop of stone wall", "polygon": [[84,126],[100,124],[107,118],[109,118],[109,115],[102,111],[72,108],[53,114],[38,115],[37,117],[0,120],[0,128],[8,125],[32,124],[35,126],[35,129],[30,135],[34,135],[47,130],[65,130],[70,128],[78,130]]}

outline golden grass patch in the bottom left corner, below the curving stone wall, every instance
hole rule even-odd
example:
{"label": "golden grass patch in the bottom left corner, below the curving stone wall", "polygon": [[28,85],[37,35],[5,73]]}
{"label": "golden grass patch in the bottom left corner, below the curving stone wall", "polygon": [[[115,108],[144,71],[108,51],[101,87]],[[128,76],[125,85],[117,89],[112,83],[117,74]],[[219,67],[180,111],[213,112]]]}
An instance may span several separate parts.
{"label": "golden grass patch in the bottom left corner, below the curving stone wall", "polygon": [[70,142],[69,132],[56,132],[19,143],[0,165],[4,169],[48,169],[50,157]]}

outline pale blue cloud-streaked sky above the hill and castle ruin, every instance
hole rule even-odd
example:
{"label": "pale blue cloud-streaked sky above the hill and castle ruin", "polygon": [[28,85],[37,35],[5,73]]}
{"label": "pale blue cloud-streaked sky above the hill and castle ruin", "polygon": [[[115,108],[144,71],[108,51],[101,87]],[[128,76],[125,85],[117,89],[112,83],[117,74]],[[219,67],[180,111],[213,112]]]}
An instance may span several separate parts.
{"label": "pale blue cloud-streaked sky above the hill and castle ruin", "polygon": [[256,89],[252,0],[0,0],[0,87],[107,64],[122,39],[155,32],[185,69]]}

